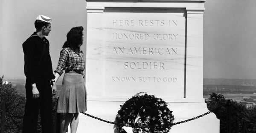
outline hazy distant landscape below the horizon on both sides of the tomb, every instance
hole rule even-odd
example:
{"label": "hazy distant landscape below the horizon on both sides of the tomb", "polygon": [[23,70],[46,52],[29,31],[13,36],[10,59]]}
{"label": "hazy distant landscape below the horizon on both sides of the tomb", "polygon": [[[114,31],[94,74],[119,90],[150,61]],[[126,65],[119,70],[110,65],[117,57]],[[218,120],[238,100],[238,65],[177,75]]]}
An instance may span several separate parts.
{"label": "hazy distant landscape below the horizon on both sides of the tomb", "polygon": [[[17,92],[26,95],[26,79],[3,78],[4,81],[12,83],[17,88]],[[57,89],[61,90],[62,78],[57,82]],[[204,78],[203,84],[204,98],[209,98],[209,94],[221,93],[226,98],[238,102],[256,103],[256,79],[225,79],[225,78]],[[60,91],[57,91],[57,95]]]}

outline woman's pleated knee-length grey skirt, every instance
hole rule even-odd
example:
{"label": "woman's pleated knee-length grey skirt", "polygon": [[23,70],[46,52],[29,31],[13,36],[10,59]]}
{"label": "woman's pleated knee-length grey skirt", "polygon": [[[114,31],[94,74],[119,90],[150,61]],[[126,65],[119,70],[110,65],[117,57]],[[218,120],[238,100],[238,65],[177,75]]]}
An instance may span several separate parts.
{"label": "woman's pleated knee-length grey skirt", "polygon": [[87,110],[87,93],[81,74],[70,71],[63,77],[58,99],[58,113],[79,113]]}

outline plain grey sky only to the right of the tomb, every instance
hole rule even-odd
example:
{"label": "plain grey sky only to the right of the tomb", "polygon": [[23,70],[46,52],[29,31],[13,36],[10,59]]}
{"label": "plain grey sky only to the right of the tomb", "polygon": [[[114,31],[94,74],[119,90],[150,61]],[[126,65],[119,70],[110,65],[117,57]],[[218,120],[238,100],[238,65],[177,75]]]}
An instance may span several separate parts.
{"label": "plain grey sky only to the right of the tomb", "polygon": [[207,0],[204,78],[256,79],[256,0]]}

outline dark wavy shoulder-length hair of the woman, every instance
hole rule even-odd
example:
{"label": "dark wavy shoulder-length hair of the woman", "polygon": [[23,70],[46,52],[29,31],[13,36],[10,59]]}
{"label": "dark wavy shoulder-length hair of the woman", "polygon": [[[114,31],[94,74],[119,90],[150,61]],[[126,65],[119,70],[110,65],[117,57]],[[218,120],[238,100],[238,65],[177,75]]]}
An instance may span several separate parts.
{"label": "dark wavy shoulder-length hair of the woman", "polygon": [[[65,41],[62,48],[71,48],[73,50],[80,49],[80,46],[83,44],[83,30],[84,28],[82,26],[73,27],[70,29],[70,31],[67,33],[67,40]],[[80,45],[80,46],[79,46]]]}

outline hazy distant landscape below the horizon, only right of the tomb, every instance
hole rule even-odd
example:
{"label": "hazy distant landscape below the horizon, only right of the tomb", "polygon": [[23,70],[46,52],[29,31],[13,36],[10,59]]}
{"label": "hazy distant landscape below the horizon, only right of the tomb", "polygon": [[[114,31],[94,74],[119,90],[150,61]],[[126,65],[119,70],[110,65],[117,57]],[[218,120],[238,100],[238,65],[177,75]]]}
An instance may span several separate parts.
{"label": "hazy distant landscape below the horizon, only right of the tomb", "polygon": [[204,78],[203,93],[205,99],[209,98],[209,94],[221,93],[225,98],[255,106],[256,79]]}

